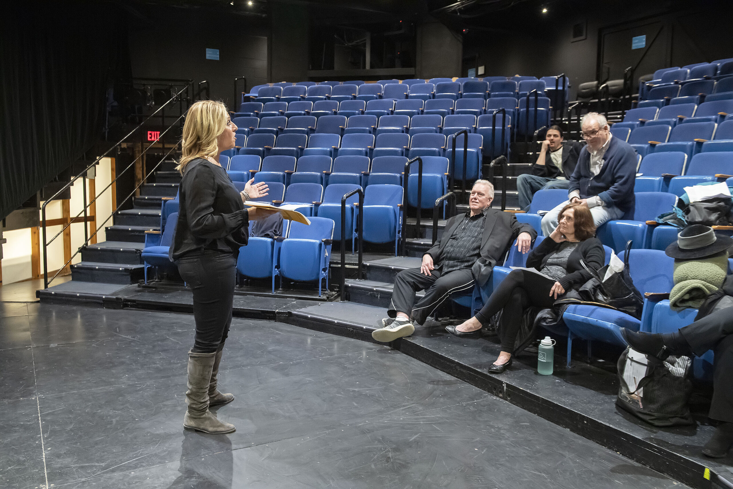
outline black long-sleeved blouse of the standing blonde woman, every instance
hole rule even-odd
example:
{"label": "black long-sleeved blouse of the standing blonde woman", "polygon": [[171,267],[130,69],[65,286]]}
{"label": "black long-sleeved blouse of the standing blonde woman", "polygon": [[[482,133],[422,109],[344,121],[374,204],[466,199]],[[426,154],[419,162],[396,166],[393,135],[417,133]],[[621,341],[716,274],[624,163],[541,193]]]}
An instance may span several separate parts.
{"label": "black long-sleeved blouse of the standing blonde woman", "polygon": [[236,257],[239,247],[247,244],[249,216],[226,171],[197,158],[185,166],[179,189],[172,260],[207,249]]}

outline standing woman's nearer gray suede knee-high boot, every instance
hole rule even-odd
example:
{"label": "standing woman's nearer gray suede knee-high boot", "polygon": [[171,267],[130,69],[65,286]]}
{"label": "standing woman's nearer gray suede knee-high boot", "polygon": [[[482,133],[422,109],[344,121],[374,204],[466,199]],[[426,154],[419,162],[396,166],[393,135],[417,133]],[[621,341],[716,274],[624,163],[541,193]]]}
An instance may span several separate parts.
{"label": "standing woman's nearer gray suede knee-high boot", "polygon": [[216,355],[217,352],[188,352],[188,391],[185,393],[188,411],[183,416],[183,426],[203,433],[232,433],[234,424],[219,421],[209,411],[209,383]]}

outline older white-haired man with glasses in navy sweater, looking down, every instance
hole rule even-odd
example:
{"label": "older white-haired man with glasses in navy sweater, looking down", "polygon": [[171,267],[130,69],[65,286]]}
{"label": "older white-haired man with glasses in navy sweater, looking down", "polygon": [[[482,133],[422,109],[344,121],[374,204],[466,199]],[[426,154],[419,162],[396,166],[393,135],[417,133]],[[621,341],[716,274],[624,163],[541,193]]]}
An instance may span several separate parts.
{"label": "older white-haired man with glasses in navy sweater, looking down", "polygon": [[603,115],[589,112],[581,120],[586,147],[570,177],[568,199],[542,218],[542,233],[557,227],[560,211],[569,203],[587,205],[596,227],[634,210],[636,151],[611,134]]}

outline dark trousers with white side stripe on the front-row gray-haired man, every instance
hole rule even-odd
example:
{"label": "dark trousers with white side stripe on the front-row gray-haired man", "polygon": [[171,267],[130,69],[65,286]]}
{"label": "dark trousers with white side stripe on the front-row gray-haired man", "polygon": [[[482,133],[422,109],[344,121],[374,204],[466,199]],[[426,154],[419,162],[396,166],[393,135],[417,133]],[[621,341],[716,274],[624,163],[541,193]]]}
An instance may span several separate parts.
{"label": "dark trousers with white side stripe on the front-row gray-haired man", "polygon": [[[440,306],[452,293],[470,292],[474,287],[474,276],[469,268],[456,270],[443,275],[440,270],[433,270],[431,275],[420,273],[419,268],[408,268],[397,273],[394,279],[394,291],[387,314],[396,317],[397,312],[404,312],[413,323],[423,324],[430,313]],[[415,293],[425,290],[425,295],[415,304]]]}

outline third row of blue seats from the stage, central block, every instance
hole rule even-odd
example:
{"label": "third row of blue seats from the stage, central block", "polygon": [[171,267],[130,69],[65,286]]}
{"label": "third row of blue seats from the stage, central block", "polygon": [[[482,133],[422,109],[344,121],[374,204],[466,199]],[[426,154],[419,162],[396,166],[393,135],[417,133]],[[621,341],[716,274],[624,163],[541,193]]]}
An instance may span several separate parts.
{"label": "third row of blue seats from the stage, central block", "polygon": [[[403,185],[405,163],[404,156],[377,156],[369,160],[366,156],[339,156],[334,160],[325,155],[301,156],[296,161],[292,156],[268,156],[262,163],[255,155],[237,155],[229,163],[227,174],[237,188],[244,188],[244,183],[254,177],[254,182],[266,182],[270,187],[268,201],[292,201],[287,191],[300,183],[316,183],[328,188],[331,185],[350,184],[367,188],[370,185]],[[422,156],[421,199],[418,199],[418,180],[420,168],[417,163],[408,170],[408,203],[423,209],[432,209],[435,200],[448,191],[450,163],[443,156]],[[463,180],[463,162],[457,162],[454,172],[456,180]],[[479,169],[466,172],[467,185],[478,177]],[[277,184],[277,185],[276,185]],[[315,197],[315,196],[314,196]],[[298,200],[297,202],[319,202],[319,199]]]}

